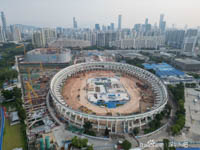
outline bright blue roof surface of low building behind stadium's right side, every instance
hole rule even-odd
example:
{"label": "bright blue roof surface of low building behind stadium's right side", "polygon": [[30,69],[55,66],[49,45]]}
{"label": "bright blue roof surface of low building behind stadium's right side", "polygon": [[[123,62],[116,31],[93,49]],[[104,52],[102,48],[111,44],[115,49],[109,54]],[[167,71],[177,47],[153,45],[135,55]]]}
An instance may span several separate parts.
{"label": "bright blue roof surface of low building behind stadium's right side", "polygon": [[143,64],[144,68],[147,70],[153,69],[156,72],[156,75],[159,77],[168,77],[168,76],[184,76],[185,73],[175,69],[167,63],[159,64]]}

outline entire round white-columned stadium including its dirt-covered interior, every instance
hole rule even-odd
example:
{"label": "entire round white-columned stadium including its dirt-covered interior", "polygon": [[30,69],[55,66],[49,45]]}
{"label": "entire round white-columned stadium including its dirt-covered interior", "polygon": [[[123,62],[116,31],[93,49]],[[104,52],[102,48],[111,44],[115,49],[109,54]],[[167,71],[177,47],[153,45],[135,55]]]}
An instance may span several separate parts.
{"label": "entire round white-columned stadium including its dirt-covered interior", "polygon": [[93,123],[96,131],[112,133],[142,127],[168,101],[165,85],[141,68],[116,62],[69,66],[51,80],[50,97],[59,117],[75,126]]}

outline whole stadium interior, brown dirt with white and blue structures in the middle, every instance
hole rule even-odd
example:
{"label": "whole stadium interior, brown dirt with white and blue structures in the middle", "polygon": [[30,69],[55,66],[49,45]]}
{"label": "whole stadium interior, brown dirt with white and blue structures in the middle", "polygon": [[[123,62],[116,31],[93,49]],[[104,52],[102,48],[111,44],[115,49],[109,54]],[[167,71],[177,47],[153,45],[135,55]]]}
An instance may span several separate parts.
{"label": "whole stadium interior, brown dirt with white and blue structures in the middle", "polygon": [[[116,79],[116,76],[118,79]],[[100,86],[101,88],[98,88],[99,86],[94,87],[92,80],[102,78],[113,80],[112,86],[118,86],[118,88],[113,88],[114,91],[111,91],[112,88],[110,87],[108,93],[106,93],[103,91],[103,86]],[[97,81],[94,82],[97,83]],[[91,71],[69,78],[64,84],[62,94],[67,105],[74,110],[102,116],[130,115],[145,112],[154,103],[151,88],[141,88],[142,85],[143,83],[138,79],[122,73]],[[101,89],[102,91],[100,91]]]}

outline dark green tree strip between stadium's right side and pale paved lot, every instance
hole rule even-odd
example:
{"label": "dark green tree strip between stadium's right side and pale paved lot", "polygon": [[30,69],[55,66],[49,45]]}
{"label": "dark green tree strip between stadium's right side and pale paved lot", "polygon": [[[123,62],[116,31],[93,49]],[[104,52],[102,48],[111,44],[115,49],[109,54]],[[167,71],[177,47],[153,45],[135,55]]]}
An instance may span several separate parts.
{"label": "dark green tree strip between stadium's right side and pale paved lot", "polygon": [[179,134],[182,128],[185,126],[184,85],[180,83],[176,86],[169,86],[168,89],[173,94],[174,100],[177,104],[175,124],[171,127],[172,134],[176,135],[176,134]]}

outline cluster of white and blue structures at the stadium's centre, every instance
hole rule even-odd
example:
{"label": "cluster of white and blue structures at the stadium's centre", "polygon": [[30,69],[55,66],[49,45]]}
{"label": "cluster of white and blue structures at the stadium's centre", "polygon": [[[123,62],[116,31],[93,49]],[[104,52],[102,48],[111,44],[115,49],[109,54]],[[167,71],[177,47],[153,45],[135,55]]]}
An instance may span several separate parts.
{"label": "cluster of white and blue structures at the stadium's centre", "polygon": [[101,107],[116,108],[130,99],[118,76],[90,78],[86,91],[88,101]]}

